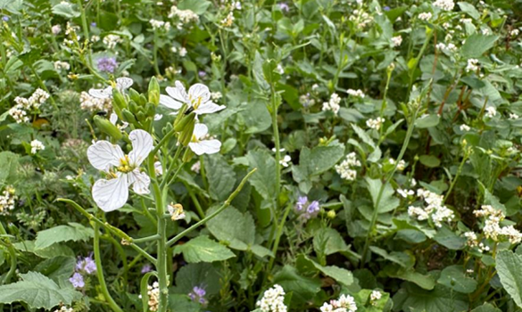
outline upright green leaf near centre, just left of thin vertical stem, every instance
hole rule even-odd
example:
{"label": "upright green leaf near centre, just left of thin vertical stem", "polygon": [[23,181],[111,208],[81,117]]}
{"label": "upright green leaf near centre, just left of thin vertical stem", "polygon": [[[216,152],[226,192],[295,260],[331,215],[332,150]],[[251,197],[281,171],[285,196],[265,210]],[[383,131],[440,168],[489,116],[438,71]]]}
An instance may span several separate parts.
{"label": "upright green leaf near centre, just left of thin vertical stem", "polygon": [[276,160],[266,150],[249,151],[249,169],[257,168],[248,180],[265,200],[273,200],[276,193]]}

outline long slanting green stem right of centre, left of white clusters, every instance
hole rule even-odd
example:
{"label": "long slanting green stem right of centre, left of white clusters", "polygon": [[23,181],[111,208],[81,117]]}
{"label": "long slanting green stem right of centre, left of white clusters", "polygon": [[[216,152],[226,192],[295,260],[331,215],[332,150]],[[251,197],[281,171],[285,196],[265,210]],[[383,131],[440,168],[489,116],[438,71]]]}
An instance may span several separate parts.
{"label": "long slanting green stem right of centre, left of white clusters", "polygon": [[411,138],[411,135],[413,134],[413,129],[415,128],[414,125],[415,125],[415,119],[417,119],[418,109],[419,109],[419,106],[413,112],[413,116],[411,117],[411,121],[410,121],[410,127],[408,127],[408,132],[406,133],[404,143],[402,144],[401,152],[399,152],[399,156],[397,157],[397,160],[395,161],[394,169],[392,170],[392,172],[389,173],[388,177],[385,178],[385,182],[381,185],[381,187],[379,189],[379,193],[377,195],[377,201],[375,202],[375,206],[374,206],[374,209],[373,209],[373,212],[371,215],[371,221],[369,223],[368,234],[366,234],[364,247],[362,249],[362,258],[360,260],[360,267],[363,267],[364,264],[366,263],[366,257],[367,257],[367,253],[368,253],[368,249],[369,249],[369,242],[370,242],[371,236],[373,235],[375,227],[377,225],[377,217],[379,214],[378,209],[379,209],[379,205],[380,205],[383,193],[385,191],[385,186],[388,184],[390,179],[392,177],[394,177],[395,171],[397,170],[397,165],[402,160],[402,156],[404,156],[404,152],[406,152],[406,149],[408,148],[408,144],[410,144],[410,138]]}

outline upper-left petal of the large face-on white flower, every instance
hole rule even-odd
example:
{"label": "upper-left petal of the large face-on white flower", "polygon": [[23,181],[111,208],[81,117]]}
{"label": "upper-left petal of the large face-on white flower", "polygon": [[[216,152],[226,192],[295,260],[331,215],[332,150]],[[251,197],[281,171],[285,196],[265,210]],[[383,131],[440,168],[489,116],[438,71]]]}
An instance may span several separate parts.
{"label": "upper-left petal of the large face-on white flower", "polygon": [[120,166],[120,159],[125,157],[120,145],[108,141],[97,141],[87,149],[87,158],[98,170],[108,171],[111,167]]}

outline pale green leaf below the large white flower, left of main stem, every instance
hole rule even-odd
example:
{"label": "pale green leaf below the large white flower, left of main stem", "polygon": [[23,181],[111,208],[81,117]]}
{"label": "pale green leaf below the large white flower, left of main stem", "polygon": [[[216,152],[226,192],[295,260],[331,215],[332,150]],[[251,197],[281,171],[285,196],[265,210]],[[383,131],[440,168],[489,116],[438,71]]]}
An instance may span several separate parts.
{"label": "pale green leaf below the large white flower, left of main stem", "polygon": [[37,250],[45,249],[56,242],[88,241],[94,235],[95,232],[92,228],[70,222],[69,226],[54,226],[38,232],[35,248]]}

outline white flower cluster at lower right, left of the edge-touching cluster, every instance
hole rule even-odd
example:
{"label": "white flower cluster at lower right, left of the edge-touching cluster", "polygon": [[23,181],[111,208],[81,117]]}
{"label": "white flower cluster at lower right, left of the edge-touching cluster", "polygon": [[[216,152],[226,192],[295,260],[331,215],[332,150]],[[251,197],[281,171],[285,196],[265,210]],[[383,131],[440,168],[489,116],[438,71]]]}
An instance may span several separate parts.
{"label": "white flower cluster at lower right, left of the edge-touching cluster", "polygon": [[424,200],[425,207],[408,207],[410,218],[416,218],[418,221],[424,221],[431,218],[431,221],[433,221],[436,227],[442,227],[442,222],[450,222],[455,218],[453,211],[443,205],[443,195],[438,195],[419,188],[417,190],[417,196]]}

